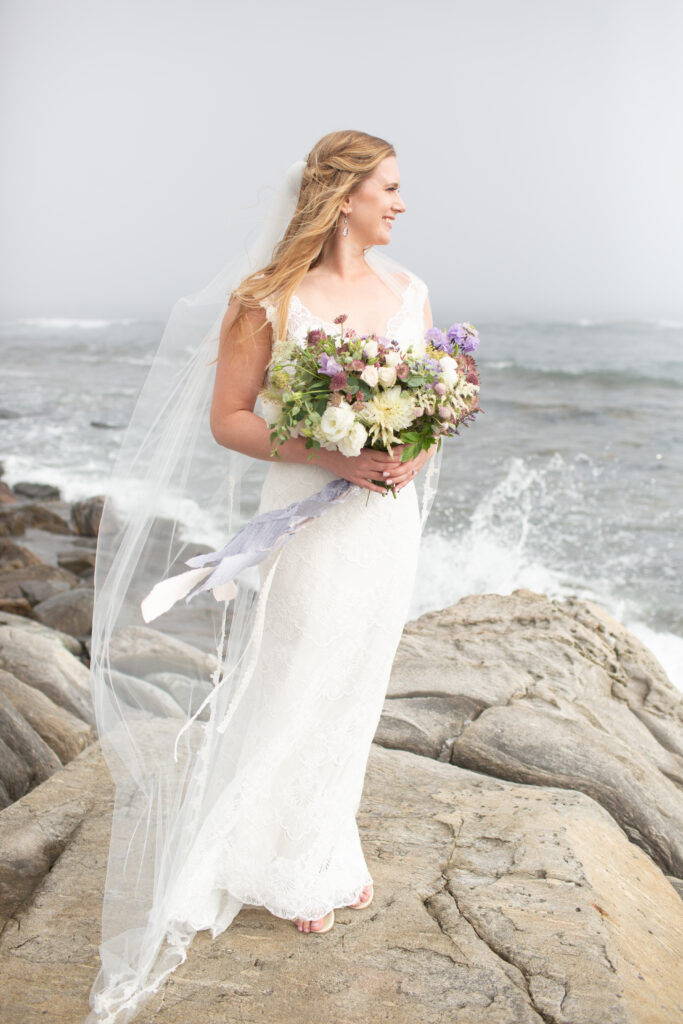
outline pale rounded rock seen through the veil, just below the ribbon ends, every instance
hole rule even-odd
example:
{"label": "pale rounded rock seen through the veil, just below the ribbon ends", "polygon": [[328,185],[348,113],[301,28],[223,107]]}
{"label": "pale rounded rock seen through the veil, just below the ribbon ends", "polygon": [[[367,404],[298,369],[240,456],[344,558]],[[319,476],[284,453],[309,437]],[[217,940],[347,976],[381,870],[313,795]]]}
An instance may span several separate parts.
{"label": "pale rounded rock seen through the veil, just below the ribbon ends", "polygon": [[150,626],[129,626],[112,638],[112,665],[120,672],[146,677],[148,673],[208,678],[216,667],[216,657],[182,640],[167,636]]}

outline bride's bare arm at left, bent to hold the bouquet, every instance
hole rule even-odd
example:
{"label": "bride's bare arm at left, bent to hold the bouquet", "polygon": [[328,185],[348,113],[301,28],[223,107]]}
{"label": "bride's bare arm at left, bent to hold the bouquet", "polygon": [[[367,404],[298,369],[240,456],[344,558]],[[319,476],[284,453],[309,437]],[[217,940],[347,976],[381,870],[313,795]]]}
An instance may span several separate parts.
{"label": "bride's bare arm at left, bent to hold the bouquet", "polygon": [[[237,300],[230,302],[220,329],[220,345],[216,364],[216,379],[211,401],[211,432],[219,444],[242,452],[254,459],[275,458],[270,443],[270,428],[254,413],[256,398],[263,386],[270,360],[272,329],[265,310],[247,313],[247,325],[253,338],[241,342],[232,325],[238,313]],[[305,438],[292,437],[278,446],[284,462],[312,462],[336,476],[380,494],[382,485],[372,480],[393,482],[396,489],[412,479],[408,463],[399,462],[399,451],[393,458],[387,452],[364,449],[359,456],[347,457],[327,449],[307,449]],[[312,455],[312,458],[311,458]]]}

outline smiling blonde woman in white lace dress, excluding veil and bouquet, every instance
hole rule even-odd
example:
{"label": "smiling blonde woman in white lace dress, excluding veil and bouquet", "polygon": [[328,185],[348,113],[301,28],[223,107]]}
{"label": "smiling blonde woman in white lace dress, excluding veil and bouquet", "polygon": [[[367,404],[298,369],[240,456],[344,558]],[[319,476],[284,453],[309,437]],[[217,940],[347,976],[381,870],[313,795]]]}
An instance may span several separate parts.
{"label": "smiling blonde woman in white lace dress, excluding veil and bouquet", "polygon": [[[289,333],[305,343],[307,330],[336,332],[335,318],[346,314],[344,327],[358,335],[422,338],[431,327],[422,282],[408,282],[399,302],[365,258],[371,246],[389,243],[393,222],[405,211],[391,147],[360,133],[326,136],[304,168],[306,190],[305,209],[317,211],[318,223],[302,216],[301,227],[292,225],[268,274],[285,289],[292,280],[296,284]],[[336,211],[335,196],[341,196]],[[331,207],[337,216],[326,231]],[[296,267],[305,258],[299,238],[304,233],[308,252],[316,255],[301,276]],[[262,283],[263,275],[255,276]],[[243,285],[222,325],[211,425],[220,444],[272,462],[268,427],[253,410],[270,358],[278,308],[274,300],[266,300],[248,310],[253,338],[244,341],[234,324],[245,296],[249,290]],[[321,449],[310,459],[304,438],[291,438],[280,445],[281,459],[272,462],[263,487],[260,511],[313,494],[334,476],[361,488],[280,556],[255,673],[261,707],[273,709],[274,721],[287,723],[291,753],[273,777],[272,804],[264,802],[266,814],[273,809],[280,814],[272,848],[266,846],[264,853],[266,821],[259,821],[258,829],[249,825],[257,840],[245,841],[253,865],[249,901],[282,916],[296,914],[304,932],[328,930],[334,906],[367,905],[372,897],[354,815],[415,578],[420,518],[411,484],[428,458],[423,452],[401,463],[400,452],[396,447],[389,456],[365,449],[347,457]],[[387,486],[378,480],[394,487],[395,501],[387,499]],[[240,847],[237,856],[244,853]],[[221,856],[225,863],[226,854]],[[226,869],[226,882],[236,874]]]}

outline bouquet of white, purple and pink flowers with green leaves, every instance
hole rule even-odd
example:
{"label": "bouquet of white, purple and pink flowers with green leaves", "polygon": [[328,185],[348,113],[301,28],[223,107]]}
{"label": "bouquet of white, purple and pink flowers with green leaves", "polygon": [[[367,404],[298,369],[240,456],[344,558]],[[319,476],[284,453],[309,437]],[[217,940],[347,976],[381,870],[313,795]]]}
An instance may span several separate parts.
{"label": "bouquet of white, purple and pink flowers with green leaves", "polygon": [[[401,461],[415,458],[479,412],[479,376],[472,352],[479,344],[471,324],[430,328],[405,347],[397,341],[343,330],[309,330],[306,344],[289,338],[273,348],[263,413],[275,449],[290,437],[306,447],[404,444]],[[312,455],[311,455],[312,457]]]}

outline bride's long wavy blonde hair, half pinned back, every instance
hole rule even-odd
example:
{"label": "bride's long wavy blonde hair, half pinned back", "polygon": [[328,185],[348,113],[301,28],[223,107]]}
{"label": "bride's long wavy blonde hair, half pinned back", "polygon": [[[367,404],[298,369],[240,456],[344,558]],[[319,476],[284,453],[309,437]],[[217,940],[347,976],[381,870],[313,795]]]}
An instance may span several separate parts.
{"label": "bride's long wavy blonde hair, half pinned back", "polygon": [[[245,278],[230,295],[230,302],[234,298],[240,302],[231,326],[238,329],[240,340],[245,338],[248,310],[268,296],[278,296],[276,323],[287,323],[292,296],[319,261],[323,246],[337,228],[344,200],[383,160],[395,156],[390,142],[362,131],[333,131],[315,143],[306,157],[296,209],[271,261]],[[249,337],[254,334],[249,332]]]}

